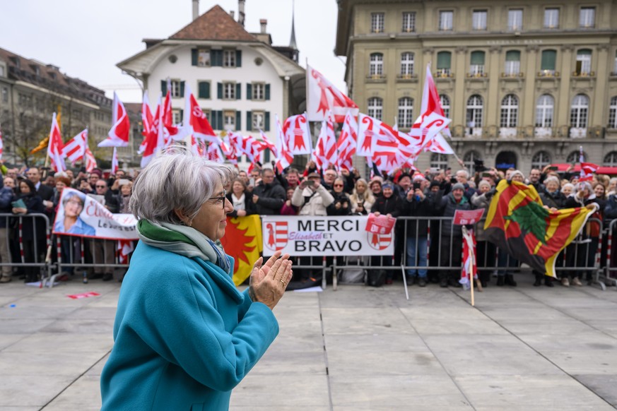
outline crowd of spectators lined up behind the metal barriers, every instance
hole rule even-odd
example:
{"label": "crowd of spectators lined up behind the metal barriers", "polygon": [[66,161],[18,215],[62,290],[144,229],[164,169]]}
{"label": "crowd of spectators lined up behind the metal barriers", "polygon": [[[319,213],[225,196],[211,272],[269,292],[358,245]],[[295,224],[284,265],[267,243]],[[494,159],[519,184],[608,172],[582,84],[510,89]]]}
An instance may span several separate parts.
{"label": "crowd of spectators lined up behind the metal barriers", "polygon": [[[26,282],[42,280],[42,285],[71,278],[84,282],[93,278],[122,280],[130,254],[122,251],[122,244],[119,247],[114,240],[52,235],[52,225],[61,191],[67,186],[102,199],[112,213],[129,212],[129,176],[119,172],[105,179],[100,170],[90,173],[82,170],[76,177],[63,172],[41,181],[40,170],[36,168],[28,169],[25,177],[16,169],[3,169],[3,172],[0,282],[8,282],[16,275]],[[549,208],[597,203],[599,212],[557,258],[556,272],[565,286],[583,282],[603,288],[616,285],[617,251],[613,250],[612,236],[616,229],[613,219],[617,218],[617,179],[606,176],[594,176],[590,183],[579,182],[575,174],[557,174],[546,167],[531,170],[526,179],[519,170],[500,172],[476,164],[473,177],[466,169],[454,174],[450,169],[428,169],[425,173],[399,169],[392,175],[363,179],[355,170],[319,171],[310,162],[304,172],[293,168],[283,174],[268,168],[253,169],[250,174],[240,171],[225,189],[234,207],[232,217],[252,214],[343,217],[375,213],[398,219],[392,256],[295,258],[294,281],[300,287],[319,279],[323,285],[330,280],[336,286],[341,280],[379,286],[403,275],[410,285],[417,283],[424,287],[435,282],[441,287],[459,287],[462,234],[460,226],[452,224],[452,216],[456,210],[488,208],[500,179],[533,185]],[[2,194],[6,197],[8,191],[10,201],[3,203]],[[21,210],[15,202],[24,198],[28,204]],[[491,278],[496,278],[498,286],[515,286],[513,274],[531,270],[486,241],[483,222],[475,225],[474,232],[481,285],[486,287]],[[534,285],[553,286],[551,278],[543,273],[534,272],[534,275]]]}

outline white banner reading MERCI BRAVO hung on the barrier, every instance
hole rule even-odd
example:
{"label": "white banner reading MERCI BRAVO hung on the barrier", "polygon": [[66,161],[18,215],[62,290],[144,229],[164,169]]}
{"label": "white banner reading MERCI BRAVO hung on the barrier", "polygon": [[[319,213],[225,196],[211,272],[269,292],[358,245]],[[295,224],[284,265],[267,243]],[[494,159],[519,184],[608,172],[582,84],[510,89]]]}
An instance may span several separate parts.
{"label": "white banner reading MERCI BRAVO hung on the barrier", "polygon": [[263,215],[264,256],[392,256],[394,230],[366,232],[368,217]]}

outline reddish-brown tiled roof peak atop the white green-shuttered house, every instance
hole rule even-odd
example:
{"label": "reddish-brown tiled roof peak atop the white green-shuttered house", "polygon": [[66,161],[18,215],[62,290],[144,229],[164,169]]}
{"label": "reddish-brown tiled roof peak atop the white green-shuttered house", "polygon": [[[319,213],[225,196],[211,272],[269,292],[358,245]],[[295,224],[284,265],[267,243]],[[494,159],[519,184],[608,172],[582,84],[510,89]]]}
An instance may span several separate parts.
{"label": "reddish-brown tiled roof peak atop the white green-shuttered house", "polygon": [[170,37],[171,40],[221,40],[257,42],[257,38],[237,23],[221,6],[214,6]]}

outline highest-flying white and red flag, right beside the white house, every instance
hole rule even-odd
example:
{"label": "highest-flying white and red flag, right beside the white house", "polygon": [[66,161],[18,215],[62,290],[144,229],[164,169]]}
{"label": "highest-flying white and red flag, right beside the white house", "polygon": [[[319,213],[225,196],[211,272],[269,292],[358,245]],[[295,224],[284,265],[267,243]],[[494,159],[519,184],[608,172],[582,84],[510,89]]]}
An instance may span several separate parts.
{"label": "highest-flying white and red flag, right beside the white house", "polygon": [[[327,112],[334,114],[334,121],[342,123],[345,115],[351,112],[353,117],[358,116],[358,105],[345,94],[334,87],[322,73],[307,65],[307,117],[309,121],[322,121]],[[284,127],[283,127],[284,129]]]}

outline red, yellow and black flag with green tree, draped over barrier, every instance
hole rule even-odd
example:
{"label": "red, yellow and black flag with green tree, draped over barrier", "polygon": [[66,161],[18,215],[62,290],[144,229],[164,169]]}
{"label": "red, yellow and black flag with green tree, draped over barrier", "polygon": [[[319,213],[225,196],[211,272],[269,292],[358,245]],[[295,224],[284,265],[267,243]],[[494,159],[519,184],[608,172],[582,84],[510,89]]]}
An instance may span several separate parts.
{"label": "red, yellow and black flag with green tree, draped over barrier", "polygon": [[534,186],[499,182],[484,230],[488,241],[531,268],[556,277],[555,260],[594,213],[584,207],[550,211]]}

